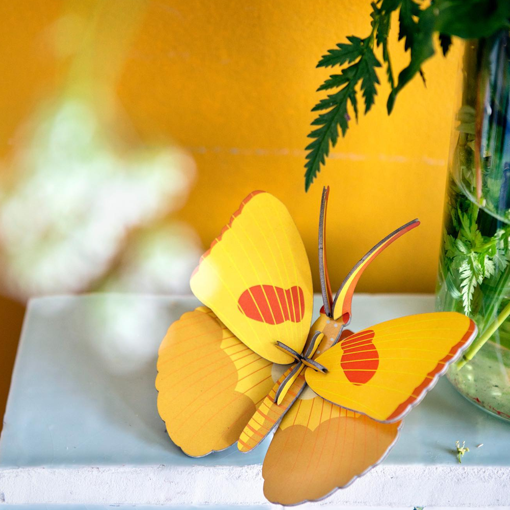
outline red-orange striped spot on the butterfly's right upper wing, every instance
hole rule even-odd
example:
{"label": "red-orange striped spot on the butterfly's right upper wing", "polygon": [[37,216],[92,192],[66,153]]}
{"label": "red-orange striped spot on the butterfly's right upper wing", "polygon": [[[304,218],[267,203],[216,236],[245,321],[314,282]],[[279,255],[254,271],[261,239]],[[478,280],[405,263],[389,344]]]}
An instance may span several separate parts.
{"label": "red-orange striped spot on the butterfly's right upper wing", "polygon": [[343,350],[340,365],[347,379],[354,385],[366,384],[377,371],[379,353],[373,344],[374,336],[372,330],[363,331],[346,338],[340,344]]}

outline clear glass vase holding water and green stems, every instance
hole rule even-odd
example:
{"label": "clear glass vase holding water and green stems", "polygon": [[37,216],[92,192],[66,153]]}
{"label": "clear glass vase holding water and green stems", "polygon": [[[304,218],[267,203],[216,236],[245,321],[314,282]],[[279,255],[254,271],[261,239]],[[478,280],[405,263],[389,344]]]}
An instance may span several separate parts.
{"label": "clear glass vase holding water and green stems", "polygon": [[466,41],[453,122],[438,311],[461,312],[478,336],[448,378],[510,421],[510,39]]}

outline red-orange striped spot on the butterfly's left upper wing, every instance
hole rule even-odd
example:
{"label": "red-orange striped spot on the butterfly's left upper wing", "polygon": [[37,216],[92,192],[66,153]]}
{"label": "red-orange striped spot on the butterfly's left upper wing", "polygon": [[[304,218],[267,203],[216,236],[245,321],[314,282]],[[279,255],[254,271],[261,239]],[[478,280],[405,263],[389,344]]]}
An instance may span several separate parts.
{"label": "red-orange striped spot on the butterfly's left upper wing", "polygon": [[241,294],[238,305],[244,315],[259,322],[301,322],[304,316],[304,293],[301,287],[296,285],[290,289],[255,285]]}

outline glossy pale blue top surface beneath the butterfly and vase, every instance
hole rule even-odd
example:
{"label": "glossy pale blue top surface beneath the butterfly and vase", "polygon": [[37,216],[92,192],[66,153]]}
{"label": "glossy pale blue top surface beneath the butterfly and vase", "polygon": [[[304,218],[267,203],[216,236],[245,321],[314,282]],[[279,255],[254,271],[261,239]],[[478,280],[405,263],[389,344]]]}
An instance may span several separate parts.
{"label": "glossy pale blue top surface beneath the butterfly and vase", "polygon": [[[250,454],[234,447],[188,457],[170,442],[158,416],[159,343],[170,323],[197,304],[193,297],[122,294],[31,301],[0,438],[0,468],[261,463],[267,444]],[[432,307],[431,296],[358,295],[351,326]],[[460,440],[484,443],[466,463],[507,466],[502,445],[509,439],[510,425],[476,409],[443,378],[405,419],[385,462],[455,464],[452,449]]]}

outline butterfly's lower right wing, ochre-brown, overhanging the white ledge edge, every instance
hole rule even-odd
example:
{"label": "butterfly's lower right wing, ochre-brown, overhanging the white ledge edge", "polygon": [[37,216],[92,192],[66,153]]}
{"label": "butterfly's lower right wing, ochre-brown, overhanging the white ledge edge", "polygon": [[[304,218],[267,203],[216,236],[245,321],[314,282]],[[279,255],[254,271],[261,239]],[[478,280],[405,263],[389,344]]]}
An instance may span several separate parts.
{"label": "butterfly's lower right wing, ochre-brown, overhanging the white ledge edge", "polygon": [[384,459],[401,426],[347,411],[309,388],[301,397],[284,416],[262,467],[264,495],[277,504],[316,501],[348,486]]}

